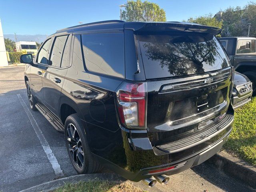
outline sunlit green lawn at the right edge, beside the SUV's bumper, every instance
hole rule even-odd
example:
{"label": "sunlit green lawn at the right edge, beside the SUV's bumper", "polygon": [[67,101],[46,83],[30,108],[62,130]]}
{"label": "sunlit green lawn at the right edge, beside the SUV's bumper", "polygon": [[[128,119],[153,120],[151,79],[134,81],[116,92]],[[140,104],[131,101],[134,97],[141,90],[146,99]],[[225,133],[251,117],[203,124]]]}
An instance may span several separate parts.
{"label": "sunlit green lawn at the right edge, beside the SUV's bumper", "polygon": [[256,97],[235,110],[233,130],[224,149],[256,165]]}

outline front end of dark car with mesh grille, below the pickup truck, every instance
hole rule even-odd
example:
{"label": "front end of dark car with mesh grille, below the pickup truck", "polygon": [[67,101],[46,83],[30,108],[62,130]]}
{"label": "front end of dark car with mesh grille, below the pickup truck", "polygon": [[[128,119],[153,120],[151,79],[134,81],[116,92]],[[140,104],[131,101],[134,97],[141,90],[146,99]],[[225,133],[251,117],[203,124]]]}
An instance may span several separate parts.
{"label": "front end of dark car with mesh grille, below the pickup truck", "polygon": [[252,83],[243,74],[235,72],[234,86],[232,90],[231,104],[233,108],[238,108],[251,101]]}

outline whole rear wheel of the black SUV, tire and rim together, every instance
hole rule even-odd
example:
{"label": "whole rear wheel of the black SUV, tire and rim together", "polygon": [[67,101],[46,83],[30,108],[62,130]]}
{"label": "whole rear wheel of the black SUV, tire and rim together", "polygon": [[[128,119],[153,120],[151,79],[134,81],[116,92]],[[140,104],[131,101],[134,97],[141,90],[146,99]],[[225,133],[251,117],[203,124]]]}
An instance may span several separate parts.
{"label": "whole rear wheel of the black SUV, tire and rim together", "polygon": [[90,152],[84,126],[77,114],[66,118],[64,134],[68,156],[79,174],[94,173],[102,168]]}

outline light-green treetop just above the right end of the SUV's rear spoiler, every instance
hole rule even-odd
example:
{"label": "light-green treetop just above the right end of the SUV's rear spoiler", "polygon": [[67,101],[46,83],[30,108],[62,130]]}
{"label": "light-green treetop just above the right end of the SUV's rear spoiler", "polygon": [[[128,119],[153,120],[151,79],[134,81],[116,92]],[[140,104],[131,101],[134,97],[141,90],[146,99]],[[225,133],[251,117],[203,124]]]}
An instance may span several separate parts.
{"label": "light-green treetop just above the right end of the SUV's rear spoiler", "polygon": [[199,16],[196,18],[190,17],[187,22],[197,23],[200,25],[206,25],[206,26],[212,26],[212,27],[218,27],[218,28],[222,28],[222,25],[223,25],[223,21],[222,20],[218,21],[217,18],[212,16],[212,14]]}

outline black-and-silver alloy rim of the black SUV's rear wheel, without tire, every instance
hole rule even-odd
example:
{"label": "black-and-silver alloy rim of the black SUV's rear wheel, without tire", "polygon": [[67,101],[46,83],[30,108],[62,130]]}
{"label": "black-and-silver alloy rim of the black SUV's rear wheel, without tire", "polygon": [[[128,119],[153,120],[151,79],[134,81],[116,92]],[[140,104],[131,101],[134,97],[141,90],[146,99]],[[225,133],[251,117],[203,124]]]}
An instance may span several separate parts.
{"label": "black-and-silver alloy rim of the black SUV's rear wheel, without tire", "polygon": [[69,152],[76,166],[80,169],[84,166],[84,150],[82,140],[74,124],[70,123],[67,127],[66,139],[68,140]]}

